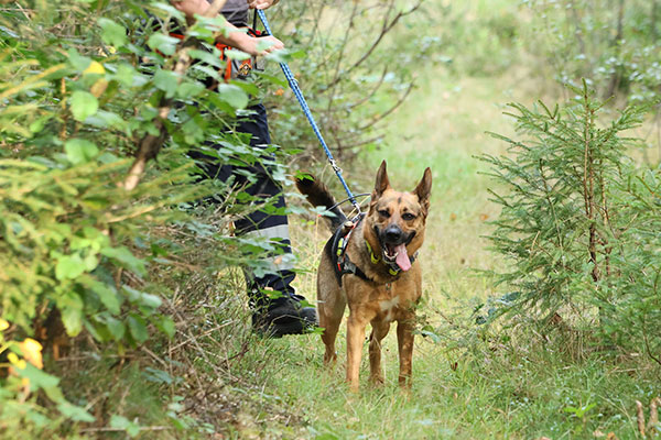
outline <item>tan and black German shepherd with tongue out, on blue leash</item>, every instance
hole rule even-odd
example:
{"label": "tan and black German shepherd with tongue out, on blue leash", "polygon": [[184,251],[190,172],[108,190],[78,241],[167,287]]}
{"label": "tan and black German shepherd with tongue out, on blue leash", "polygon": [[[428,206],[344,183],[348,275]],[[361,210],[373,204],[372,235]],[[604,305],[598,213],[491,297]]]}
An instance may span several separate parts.
{"label": "tan and black German shepherd with tongue out, on blue leash", "polygon": [[369,338],[370,381],[383,383],[381,340],[390,323],[398,322],[400,356],[399,383],[411,386],[413,326],[415,306],[422,295],[418,250],[424,240],[430,207],[432,173],[430,168],[411,193],[390,187],[386,161],[377,173],[369,211],[355,223],[336,207],[328,188],[312,178],[296,179],[296,187],[314,206],[326,207],[333,238],[326,243],[317,273],[317,299],[322,340],[326,345],[324,363],[333,363],[335,338],[345,307],[347,323],[347,382],[358,391],[358,370],[365,330],[371,323]]}

